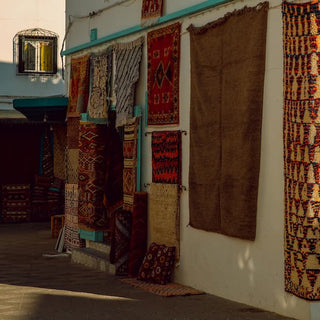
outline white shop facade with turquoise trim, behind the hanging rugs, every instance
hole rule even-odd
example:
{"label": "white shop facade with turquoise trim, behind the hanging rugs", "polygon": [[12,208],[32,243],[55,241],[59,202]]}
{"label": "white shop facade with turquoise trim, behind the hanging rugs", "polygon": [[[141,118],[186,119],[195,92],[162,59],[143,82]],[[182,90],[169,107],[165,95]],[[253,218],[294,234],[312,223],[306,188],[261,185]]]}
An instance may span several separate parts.
{"label": "white shop facade with turquoise trim, behind the hanging rugs", "polygon": [[[317,319],[320,305],[285,290],[284,262],[284,173],[283,173],[283,50],[281,1],[269,1],[265,47],[265,73],[261,126],[261,158],[257,186],[255,236],[244,239],[195,228],[190,223],[190,126],[191,126],[191,24],[195,27],[217,21],[256,0],[163,2],[162,18],[150,27],[141,27],[142,1],[69,0],[66,3],[66,90],[69,87],[71,58],[100,53],[108,46],[145,37],[135,105],[143,110],[142,132],[155,130],[148,125],[147,34],[176,22],[181,23],[179,71],[179,123],[182,136],[183,191],[180,197],[180,262],[175,281],[230,300],[298,319]],[[250,30],[248,30],[248,33]],[[246,36],[238,39],[245,47]],[[236,78],[235,78],[236,79]],[[232,83],[237,87],[238,83]],[[214,92],[215,87],[211,88]],[[237,114],[239,118],[241,114]],[[252,124],[253,126],[256,123]],[[162,125],[161,130],[171,130]],[[159,127],[157,128],[159,129]],[[160,130],[159,129],[159,130]],[[239,145],[239,148],[242,148]],[[209,159],[210,160],[210,159]],[[237,161],[237,159],[233,159]],[[205,162],[204,166],[210,163]],[[232,166],[232,161],[229,163]],[[148,191],[152,182],[151,135],[142,134],[141,187]],[[232,198],[229,199],[232,202]],[[214,306],[212,306],[214,308]]]}

